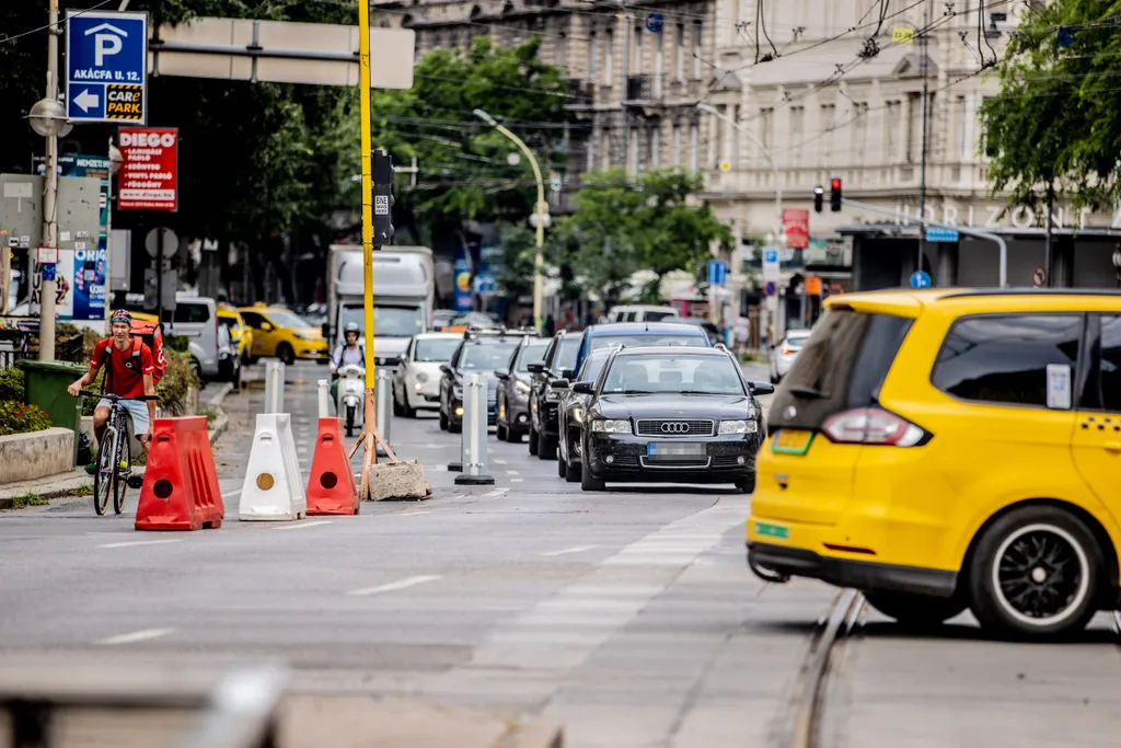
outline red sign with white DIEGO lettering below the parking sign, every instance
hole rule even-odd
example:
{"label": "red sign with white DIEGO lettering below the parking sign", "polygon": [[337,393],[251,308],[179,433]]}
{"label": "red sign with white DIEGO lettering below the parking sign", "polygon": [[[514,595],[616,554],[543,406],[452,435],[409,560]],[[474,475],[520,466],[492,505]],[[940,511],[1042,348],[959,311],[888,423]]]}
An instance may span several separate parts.
{"label": "red sign with white DIEGO lettering below the parking sign", "polygon": [[117,140],[122,158],[118,210],[179,210],[178,128],[122,127]]}

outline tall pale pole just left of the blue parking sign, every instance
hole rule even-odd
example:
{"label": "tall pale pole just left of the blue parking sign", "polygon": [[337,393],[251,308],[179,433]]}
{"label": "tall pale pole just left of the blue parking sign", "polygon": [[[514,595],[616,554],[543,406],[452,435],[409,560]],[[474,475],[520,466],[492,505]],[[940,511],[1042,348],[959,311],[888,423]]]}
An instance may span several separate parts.
{"label": "tall pale pole just left of the blue parking sign", "polygon": [[[58,101],[58,0],[50,3],[47,26],[47,99]],[[46,136],[46,170],[43,174],[43,246],[58,251],[58,135]],[[55,258],[57,259],[57,257]],[[28,264],[30,266],[30,262]],[[47,269],[49,267],[49,269]],[[41,266],[43,279],[39,284],[39,360],[55,358],[55,268]],[[7,283],[4,278],[4,283]]]}

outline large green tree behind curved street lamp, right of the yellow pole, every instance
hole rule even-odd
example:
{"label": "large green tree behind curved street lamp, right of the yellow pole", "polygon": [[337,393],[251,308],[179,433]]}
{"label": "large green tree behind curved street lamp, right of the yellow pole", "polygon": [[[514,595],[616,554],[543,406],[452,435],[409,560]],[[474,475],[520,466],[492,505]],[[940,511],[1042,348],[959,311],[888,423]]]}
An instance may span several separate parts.
{"label": "large green tree behind curved street lamp, right of the yellow pole", "polygon": [[[536,182],[513,142],[471,112],[509,122],[545,178],[564,163],[564,72],[544,64],[540,40],[497,48],[488,37],[469,50],[436,49],[416,66],[410,91],[374,91],[373,144],[420,168],[416,188],[398,184],[395,222],[418,241],[458,231],[463,221],[520,221],[532,212]],[[550,127],[552,126],[552,127]],[[507,156],[518,153],[511,166]]]}

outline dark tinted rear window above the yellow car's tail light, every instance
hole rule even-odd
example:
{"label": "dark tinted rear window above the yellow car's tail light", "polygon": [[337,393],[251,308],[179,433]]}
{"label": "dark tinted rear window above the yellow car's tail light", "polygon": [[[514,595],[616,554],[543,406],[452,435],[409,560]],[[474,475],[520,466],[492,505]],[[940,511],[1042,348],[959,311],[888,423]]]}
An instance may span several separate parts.
{"label": "dark tinted rear window above the yellow car's tail light", "polygon": [[817,430],[835,413],[874,404],[910,325],[887,314],[826,312],[775,395],[770,427]]}

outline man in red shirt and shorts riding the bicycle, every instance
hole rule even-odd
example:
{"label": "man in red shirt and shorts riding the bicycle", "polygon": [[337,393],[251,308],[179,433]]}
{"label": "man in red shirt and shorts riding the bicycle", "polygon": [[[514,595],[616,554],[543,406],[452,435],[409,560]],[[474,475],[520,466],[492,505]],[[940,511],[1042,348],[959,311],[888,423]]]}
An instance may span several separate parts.
{"label": "man in red shirt and shorts riding the bicycle", "polygon": [[[152,375],[156,371],[156,362],[151,349],[139,338],[133,338],[132,315],[126,310],[113,312],[109,329],[113,334],[98,341],[93,349],[93,358],[90,359],[90,370],[67,387],[66,391],[77,397],[83,388],[93,384],[101,367],[106,366],[102,391],[118,397],[145,395],[155,397],[156,382]],[[93,412],[93,433],[99,444],[105,431],[105,423],[109,421],[109,400],[101,399]],[[121,400],[120,407],[132,417],[132,433],[136,434],[147,456],[148,445],[151,442],[151,422],[156,418],[156,400]],[[96,470],[95,465],[92,467]],[[86,468],[86,471],[89,472],[90,468]]]}

